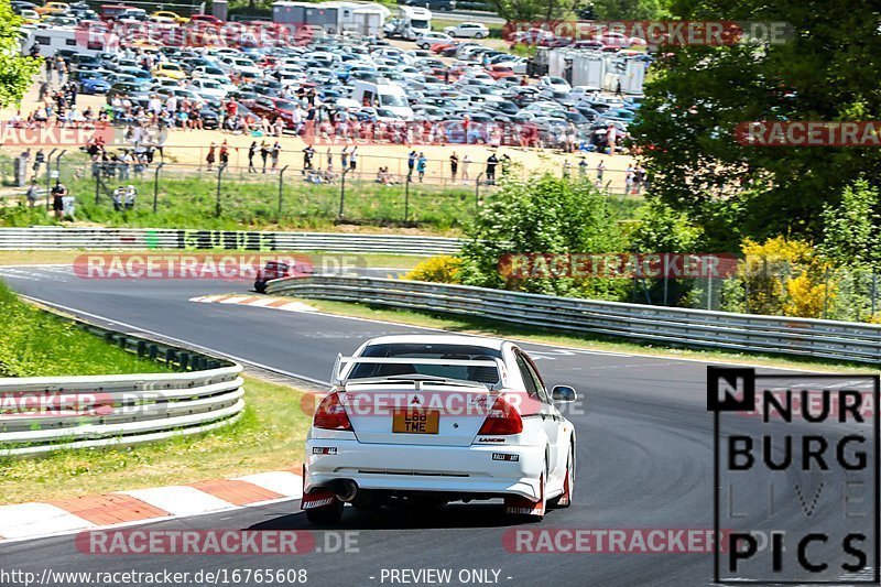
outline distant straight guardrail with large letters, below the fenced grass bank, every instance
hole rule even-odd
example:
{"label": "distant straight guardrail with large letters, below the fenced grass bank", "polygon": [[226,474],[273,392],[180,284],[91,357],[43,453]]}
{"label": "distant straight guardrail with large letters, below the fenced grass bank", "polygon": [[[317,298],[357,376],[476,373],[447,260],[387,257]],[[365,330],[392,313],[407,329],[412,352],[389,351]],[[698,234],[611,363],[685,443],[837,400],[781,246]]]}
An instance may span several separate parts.
{"label": "distant straight guardrail with large letters, below the fenced grass bank", "polygon": [[170,228],[0,228],[0,250],[244,249],[345,253],[455,254],[459,239],[339,232],[269,232]]}

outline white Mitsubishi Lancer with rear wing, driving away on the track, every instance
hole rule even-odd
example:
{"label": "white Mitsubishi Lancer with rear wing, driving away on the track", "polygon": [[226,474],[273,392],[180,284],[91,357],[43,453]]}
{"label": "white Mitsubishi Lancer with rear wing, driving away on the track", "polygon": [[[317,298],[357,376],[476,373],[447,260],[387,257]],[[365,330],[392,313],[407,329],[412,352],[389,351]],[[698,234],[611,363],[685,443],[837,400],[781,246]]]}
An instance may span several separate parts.
{"label": "white Mitsubishi Lancer with rear wing, driving away on the track", "polygon": [[357,509],[502,498],[540,519],[568,507],[575,428],[532,359],[474,336],[374,338],[337,358],[306,437],[302,508],[315,523]]}

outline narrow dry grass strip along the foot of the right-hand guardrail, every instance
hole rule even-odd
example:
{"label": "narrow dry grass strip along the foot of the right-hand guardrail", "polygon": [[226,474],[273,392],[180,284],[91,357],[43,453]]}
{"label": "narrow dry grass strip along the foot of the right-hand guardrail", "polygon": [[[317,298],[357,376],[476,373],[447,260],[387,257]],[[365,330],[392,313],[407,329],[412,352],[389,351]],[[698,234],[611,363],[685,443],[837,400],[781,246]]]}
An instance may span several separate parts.
{"label": "narrow dry grass strip along the foot of the right-hand guardrail", "polygon": [[652,357],[666,357],[671,359],[694,359],[706,362],[735,362],[749,363],[770,368],[811,369],[814,371],[860,371],[868,372],[866,365],[847,363],[840,361],[822,361],[817,359],[801,359],[797,357],[775,357],[771,355],[752,355],[747,352],[724,352],[714,350],[692,350],[655,346],[649,343],[622,343],[608,337],[575,336],[559,334],[536,327],[521,327],[507,325],[483,318],[467,316],[452,316],[440,313],[414,312],[396,309],[349,302],[331,302],[326,300],[296,298],[311,305],[319,312],[354,316],[374,320],[393,322],[410,326],[424,326],[439,328],[453,333],[475,334],[527,340],[565,347],[584,348],[589,350],[606,350],[610,352],[626,352],[631,355],[646,355]]}

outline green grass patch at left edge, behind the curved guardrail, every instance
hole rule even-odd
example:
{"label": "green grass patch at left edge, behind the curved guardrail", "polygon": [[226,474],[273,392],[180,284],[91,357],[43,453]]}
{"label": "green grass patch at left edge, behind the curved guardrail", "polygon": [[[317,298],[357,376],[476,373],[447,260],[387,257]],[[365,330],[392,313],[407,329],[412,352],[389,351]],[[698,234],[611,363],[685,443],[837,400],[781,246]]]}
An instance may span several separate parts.
{"label": "green grass patch at left edge, behind the curved guardrail", "polygon": [[0,283],[0,377],[165,372],[76,325],[19,300]]}

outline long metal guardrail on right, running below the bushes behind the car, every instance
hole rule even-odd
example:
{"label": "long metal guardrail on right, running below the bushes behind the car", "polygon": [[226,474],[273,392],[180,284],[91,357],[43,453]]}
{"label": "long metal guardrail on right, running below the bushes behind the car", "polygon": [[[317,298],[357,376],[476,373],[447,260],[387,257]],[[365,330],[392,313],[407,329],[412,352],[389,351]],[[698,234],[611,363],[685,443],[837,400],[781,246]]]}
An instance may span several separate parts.
{"label": "long metal guardrail on right, running below the bushes behind the car", "polygon": [[267,293],[460,314],[683,347],[870,363],[881,360],[881,325],[597,302],[374,278],[289,278],[271,281]]}

